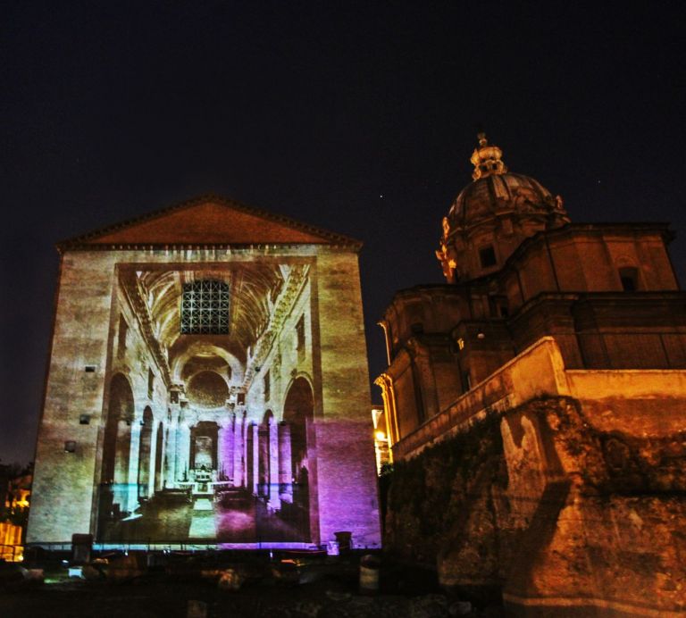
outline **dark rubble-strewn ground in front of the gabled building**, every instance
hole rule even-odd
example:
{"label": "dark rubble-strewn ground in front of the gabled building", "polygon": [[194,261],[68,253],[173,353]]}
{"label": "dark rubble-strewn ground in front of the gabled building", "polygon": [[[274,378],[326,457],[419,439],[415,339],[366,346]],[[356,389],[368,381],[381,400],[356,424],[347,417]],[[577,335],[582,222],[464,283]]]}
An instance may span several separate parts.
{"label": "dark rubble-strewn ground in front of the gabled building", "polygon": [[[69,579],[67,567],[46,570],[42,585],[6,586],[0,594],[4,618],[54,616],[108,618],[448,618],[500,616],[499,599],[470,603],[448,596],[431,573],[382,560],[381,587],[360,589],[357,552],[339,558],[248,558],[231,564],[176,557],[163,568],[131,577]],[[369,571],[365,573],[366,576]],[[374,579],[372,572],[372,580]],[[369,578],[363,577],[368,587]],[[238,588],[238,589],[234,589]]]}

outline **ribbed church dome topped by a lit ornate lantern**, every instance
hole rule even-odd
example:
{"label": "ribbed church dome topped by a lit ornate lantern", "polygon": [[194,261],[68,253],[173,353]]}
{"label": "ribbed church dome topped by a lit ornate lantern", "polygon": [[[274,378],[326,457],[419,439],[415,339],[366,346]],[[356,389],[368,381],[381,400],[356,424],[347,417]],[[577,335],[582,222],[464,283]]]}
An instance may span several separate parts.
{"label": "ribbed church dome topped by a lit ornate lantern", "polygon": [[473,182],[443,219],[436,255],[449,282],[497,271],[525,238],[569,222],[560,196],[538,180],[508,171],[502,150],[479,134]]}

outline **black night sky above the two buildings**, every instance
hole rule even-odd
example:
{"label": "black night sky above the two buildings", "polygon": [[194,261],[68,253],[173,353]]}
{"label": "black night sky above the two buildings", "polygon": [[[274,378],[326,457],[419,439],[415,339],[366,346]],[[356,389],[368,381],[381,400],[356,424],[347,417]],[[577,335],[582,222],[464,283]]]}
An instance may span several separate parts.
{"label": "black night sky above the two buildings", "polygon": [[33,455],[54,243],[200,194],[364,241],[372,377],[480,125],[573,221],[671,221],[684,280],[681,3],[582,4],[3,3],[2,460]]}

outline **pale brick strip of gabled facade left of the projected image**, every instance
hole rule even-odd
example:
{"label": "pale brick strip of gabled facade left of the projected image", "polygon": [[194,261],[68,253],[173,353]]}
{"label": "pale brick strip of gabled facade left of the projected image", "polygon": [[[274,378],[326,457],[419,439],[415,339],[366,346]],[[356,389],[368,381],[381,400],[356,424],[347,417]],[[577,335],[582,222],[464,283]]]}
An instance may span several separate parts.
{"label": "pale brick strip of gabled facade left of the projected image", "polygon": [[[104,422],[105,362],[113,256],[64,255],[55,307],[46,398],[36,447],[29,542],[65,542],[91,528],[98,434]],[[94,365],[95,372],[85,372]],[[79,415],[91,416],[88,425]],[[67,453],[66,441],[75,442]]]}

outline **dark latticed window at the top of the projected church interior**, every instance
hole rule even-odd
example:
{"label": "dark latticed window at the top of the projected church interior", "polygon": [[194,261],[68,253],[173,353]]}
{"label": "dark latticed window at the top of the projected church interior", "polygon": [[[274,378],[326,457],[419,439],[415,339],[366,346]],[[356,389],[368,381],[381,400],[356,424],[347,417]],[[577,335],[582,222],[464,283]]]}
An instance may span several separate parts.
{"label": "dark latticed window at the top of the projected church interior", "polygon": [[226,283],[200,280],[183,284],[181,334],[229,334],[229,286]]}

